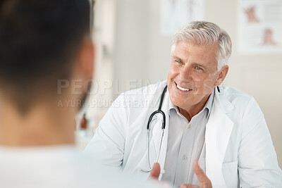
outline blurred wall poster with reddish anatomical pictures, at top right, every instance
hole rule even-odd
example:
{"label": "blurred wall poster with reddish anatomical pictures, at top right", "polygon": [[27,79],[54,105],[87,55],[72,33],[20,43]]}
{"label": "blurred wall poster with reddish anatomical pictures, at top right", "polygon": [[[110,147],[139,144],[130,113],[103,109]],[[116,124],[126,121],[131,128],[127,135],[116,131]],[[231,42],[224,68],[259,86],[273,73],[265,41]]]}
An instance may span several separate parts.
{"label": "blurred wall poster with reddish anatomical pictures, at top right", "polygon": [[239,51],[282,52],[282,1],[239,0]]}

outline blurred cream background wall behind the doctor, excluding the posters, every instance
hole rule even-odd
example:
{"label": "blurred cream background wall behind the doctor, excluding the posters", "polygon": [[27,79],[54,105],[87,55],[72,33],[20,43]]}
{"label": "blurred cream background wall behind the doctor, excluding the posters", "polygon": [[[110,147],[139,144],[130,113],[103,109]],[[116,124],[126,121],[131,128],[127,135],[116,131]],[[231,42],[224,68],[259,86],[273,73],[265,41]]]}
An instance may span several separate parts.
{"label": "blurred cream background wall behind the doctor, excluding the posters", "polygon": [[[94,87],[98,89],[90,97],[96,102],[87,106],[87,118],[94,119],[96,126],[121,92],[166,80],[171,36],[161,35],[160,4],[161,0],[97,0]],[[231,36],[231,68],[224,84],[255,97],[282,167],[282,54],[239,53],[237,8],[235,0],[205,1],[205,20],[218,24]]]}

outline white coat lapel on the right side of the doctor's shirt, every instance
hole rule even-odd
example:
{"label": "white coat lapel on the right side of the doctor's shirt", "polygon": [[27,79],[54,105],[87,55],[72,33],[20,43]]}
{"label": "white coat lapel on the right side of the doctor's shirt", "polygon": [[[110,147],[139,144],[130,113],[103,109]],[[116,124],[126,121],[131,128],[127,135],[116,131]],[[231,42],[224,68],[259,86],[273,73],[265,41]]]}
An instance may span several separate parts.
{"label": "white coat lapel on the right side of the doctor's shirt", "polygon": [[232,104],[221,93],[216,91],[214,106],[206,125],[205,134],[206,173],[212,181],[213,187],[226,187],[221,167],[233,129],[233,122],[226,113],[232,109]]}

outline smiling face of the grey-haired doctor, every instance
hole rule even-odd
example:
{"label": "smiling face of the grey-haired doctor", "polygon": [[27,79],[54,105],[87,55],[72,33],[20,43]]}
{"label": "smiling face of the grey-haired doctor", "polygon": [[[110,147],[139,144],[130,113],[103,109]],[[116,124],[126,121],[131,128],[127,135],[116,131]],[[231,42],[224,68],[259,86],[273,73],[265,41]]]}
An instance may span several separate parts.
{"label": "smiling face of the grey-haired doctor", "polygon": [[216,44],[197,46],[186,41],[176,44],[168,72],[168,92],[178,108],[190,111],[198,105],[204,107],[214,87],[221,84],[226,74],[217,71],[218,50]]}

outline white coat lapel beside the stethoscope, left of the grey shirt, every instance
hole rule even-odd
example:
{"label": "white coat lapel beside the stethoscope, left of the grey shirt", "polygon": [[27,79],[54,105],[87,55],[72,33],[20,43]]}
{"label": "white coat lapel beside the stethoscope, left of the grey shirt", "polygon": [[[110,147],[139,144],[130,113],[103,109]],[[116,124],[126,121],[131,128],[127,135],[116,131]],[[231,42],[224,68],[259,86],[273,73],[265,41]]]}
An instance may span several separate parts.
{"label": "white coat lapel beside the stethoscope, left of the grey shirt", "polygon": [[[164,162],[166,161],[166,148],[167,148],[167,141],[168,141],[168,126],[169,126],[168,125],[168,122],[169,122],[168,104],[169,104],[169,94],[166,91],[166,95],[164,96],[164,102],[161,108],[161,110],[164,111],[164,114],[166,115],[166,128],[164,130],[164,138],[162,140],[161,151],[159,155],[159,165],[161,165],[161,175],[162,173],[164,173]],[[158,114],[158,118],[162,119],[160,114]],[[159,120],[153,127],[152,139],[154,141],[155,152],[159,153],[159,145],[161,143],[161,120]],[[161,175],[159,179],[161,179]]]}

